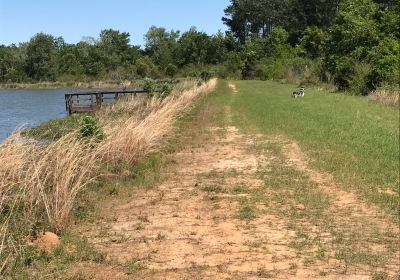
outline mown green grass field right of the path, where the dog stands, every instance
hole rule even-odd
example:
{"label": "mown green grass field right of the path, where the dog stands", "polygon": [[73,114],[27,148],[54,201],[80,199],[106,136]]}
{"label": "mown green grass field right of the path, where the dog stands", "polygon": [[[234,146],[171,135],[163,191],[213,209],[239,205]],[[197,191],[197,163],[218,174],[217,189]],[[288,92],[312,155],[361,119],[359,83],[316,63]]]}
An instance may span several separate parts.
{"label": "mown green grass field right of the path, where the dog stands", "polygon": [[231,106],[233,123],[249,133],[284,135],[299,143],[313,168],[329,172],[367,201],[399,211],[399,111],[366,98],[307,89],[291,98],[294,85],[221,82],[210,97]]}

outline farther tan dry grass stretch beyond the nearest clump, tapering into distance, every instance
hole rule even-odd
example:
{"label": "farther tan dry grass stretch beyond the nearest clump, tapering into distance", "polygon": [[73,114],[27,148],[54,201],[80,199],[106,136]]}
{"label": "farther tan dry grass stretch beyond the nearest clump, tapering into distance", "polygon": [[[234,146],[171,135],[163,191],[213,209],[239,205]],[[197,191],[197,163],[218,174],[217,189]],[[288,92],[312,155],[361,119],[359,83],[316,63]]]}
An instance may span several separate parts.
{"label": "farther tan dry grass stretch beyond the nearest clump, tapering into distance", "polygon": [[171,132],[179,114],[186,111],[202,94],[211,91],[215,84],[216,80],[211,80],[184,92],[174,90],[163,100],[155,97],[145,101],[145,104],[140,99],[127,102],[126,106],[137,108],[138,111],[126,119],[110,120],[103,117],[106,134],[109,135],[99,147],[103,160],[118,164],[134,163],[141,159],[157,147],[161,138]]}

